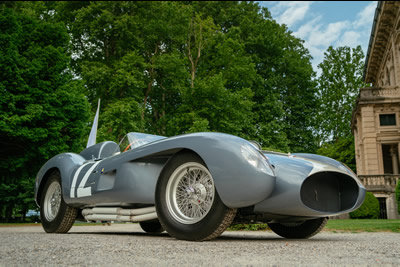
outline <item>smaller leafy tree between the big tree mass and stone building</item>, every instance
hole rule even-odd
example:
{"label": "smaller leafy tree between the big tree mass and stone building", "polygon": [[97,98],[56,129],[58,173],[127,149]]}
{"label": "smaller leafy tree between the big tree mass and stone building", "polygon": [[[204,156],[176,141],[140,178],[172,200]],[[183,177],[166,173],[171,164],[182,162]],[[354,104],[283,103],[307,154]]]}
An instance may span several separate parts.
{"label": "smaller leafy tree between the big tree mass and stone building", "polygon": [[341,161],[356,172],[350,122],[358,91],[364,86],[363,51],[360,46],[329,47],[318,68],[322,73],[317,79],[317,153]]}

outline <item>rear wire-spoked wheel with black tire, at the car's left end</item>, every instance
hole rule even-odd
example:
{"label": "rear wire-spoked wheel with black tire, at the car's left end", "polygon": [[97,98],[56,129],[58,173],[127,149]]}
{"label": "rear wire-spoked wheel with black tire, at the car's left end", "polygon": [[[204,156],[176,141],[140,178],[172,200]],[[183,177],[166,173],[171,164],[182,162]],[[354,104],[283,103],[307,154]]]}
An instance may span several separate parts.
{"label": "rear wire-spoked wheel with black tire, at the car's left end", "polygon": [[78,209],[68,206],[64,201],[60,173],[53,172],[40,198],[40,218],[43,229],[47,233],[67,233],[77,215]]}

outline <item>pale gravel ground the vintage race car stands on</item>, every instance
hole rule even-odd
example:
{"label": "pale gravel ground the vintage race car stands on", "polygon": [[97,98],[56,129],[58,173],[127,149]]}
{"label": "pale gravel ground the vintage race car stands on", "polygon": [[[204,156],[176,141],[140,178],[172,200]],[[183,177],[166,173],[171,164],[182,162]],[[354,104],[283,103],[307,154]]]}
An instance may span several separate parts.
{"label": "pale gravel ground the vintage race car stands on", "polygon": [[0,266],[261,266],[400,265],[400,234],[322,232],[287,240],[272,232],[225,232],[208,242],[138,224],[74,226],[46,234],[40,226],[0,227]]}

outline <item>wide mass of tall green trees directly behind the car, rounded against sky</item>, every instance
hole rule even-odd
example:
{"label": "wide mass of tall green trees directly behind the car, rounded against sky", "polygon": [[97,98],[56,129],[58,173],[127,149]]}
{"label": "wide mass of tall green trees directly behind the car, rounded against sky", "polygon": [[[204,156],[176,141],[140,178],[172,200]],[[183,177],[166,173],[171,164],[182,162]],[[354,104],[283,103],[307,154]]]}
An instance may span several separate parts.
{"label": "wide mass of tall green trees directly behind the car, rounded against sky", "polygon": [[218,131],[315,151],[311,56],[258,3],[58,2],[55,10],[93,111],[98,98],[102,110],[130,98],[141,131]]}

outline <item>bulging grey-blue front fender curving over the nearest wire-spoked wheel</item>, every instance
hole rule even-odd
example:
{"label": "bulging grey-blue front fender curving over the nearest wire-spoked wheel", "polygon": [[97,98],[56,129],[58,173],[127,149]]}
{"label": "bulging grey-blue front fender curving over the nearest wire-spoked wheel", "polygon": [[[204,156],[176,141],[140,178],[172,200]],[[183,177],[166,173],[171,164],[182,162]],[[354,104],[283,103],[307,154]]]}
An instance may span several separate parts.
{"label": "bulging grey-blue front fender curving over the nearest wire-spoked wheel", "polygon": [[248,146],[249,142],[242,138],[220,133],[198,133],[180,136],[179,145],[196,152],[203,159],[222,202],[230,208],[261,202],[274,189],[275,176],[244,159],[241,148]]}

